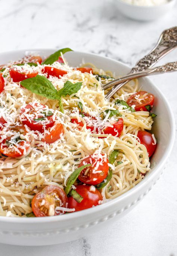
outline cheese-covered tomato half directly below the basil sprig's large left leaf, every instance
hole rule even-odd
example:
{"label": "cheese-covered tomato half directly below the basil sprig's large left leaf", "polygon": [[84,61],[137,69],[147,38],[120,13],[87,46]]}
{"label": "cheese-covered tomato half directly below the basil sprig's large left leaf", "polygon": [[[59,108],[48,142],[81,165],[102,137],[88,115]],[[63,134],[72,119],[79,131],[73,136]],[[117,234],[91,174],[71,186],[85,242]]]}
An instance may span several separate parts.
{"label": "cheese-covered tomato half directly below the basil sprig's large left leaf", "polygon": [[35,103],[35,107],[27,104],[21,109],[20,120],[22,124],[27,125],[31,130],[43,131],[54,125],[53,112],[47,110],[47,107],[41,103]]}

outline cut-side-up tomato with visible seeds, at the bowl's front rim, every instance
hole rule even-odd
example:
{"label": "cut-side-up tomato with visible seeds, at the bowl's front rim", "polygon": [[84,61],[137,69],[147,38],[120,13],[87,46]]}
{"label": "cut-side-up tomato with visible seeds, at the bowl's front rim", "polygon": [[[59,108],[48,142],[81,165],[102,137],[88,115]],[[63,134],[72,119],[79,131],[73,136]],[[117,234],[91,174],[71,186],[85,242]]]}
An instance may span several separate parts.
{"label": "cut-side-up tomato with visible seeds, at the bowl's front rim", "polygon": [[65,191],[56,185],[48,185],[32,199],[31,207],[36,217],[54,216],[65,213],[57,207],[66,207]]}

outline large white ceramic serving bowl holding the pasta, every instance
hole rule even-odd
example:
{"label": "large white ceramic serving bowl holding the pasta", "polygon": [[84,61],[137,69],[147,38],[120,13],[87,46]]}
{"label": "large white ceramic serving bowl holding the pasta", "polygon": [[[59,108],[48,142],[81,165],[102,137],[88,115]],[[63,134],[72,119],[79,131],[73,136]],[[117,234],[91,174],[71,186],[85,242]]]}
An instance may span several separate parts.
{"label": "large white ceramic serving bowl holding the pasta", "polygon": [[[48,56],[55,50],[35,50],[41,56]],[[0,54],[0,63],[16,60],[31,51],[13,51]],[[65,58],[72,66],[78,66],[82,60],[91,62],[103,70],[112,70],[124,75],[130,68],[126,65],[101,57],[96,54],[67,52]],[[153,155],[152,171],[134,188],[105,204],[84,211],[62,216],[20,218],[0,216],[0,243],[38,246],[64,243],[76,240],[96,232],[119,219],[130,211],[152,189],[165,168],[174,143],[175,122],[170,106],[162,92],[148,78],[139,79],[142,89],[155,95],[154,112],[158,115],[153,125],[153,132],[158,139],[158,147]],[[164,118],[165,116],[165,118]]]}

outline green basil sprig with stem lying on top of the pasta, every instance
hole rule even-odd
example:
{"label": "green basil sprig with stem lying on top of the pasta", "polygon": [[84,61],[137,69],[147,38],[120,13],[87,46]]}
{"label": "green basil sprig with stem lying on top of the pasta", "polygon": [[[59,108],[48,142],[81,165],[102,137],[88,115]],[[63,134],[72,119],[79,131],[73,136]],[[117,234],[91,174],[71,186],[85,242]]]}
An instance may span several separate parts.
{"label": "green basil sprig with stem lying on top of the pasta", "polygon": [[53,84],[44,76],[37,75],[36,77],[27,78],[20,82],[23,87],[29,91],[46,97],[51,100],[58,100],[60,111],[63,113],[62,96],[71,95],[80,90],[82,83],[71,83],[66,81],[63,88],[57,91]]}

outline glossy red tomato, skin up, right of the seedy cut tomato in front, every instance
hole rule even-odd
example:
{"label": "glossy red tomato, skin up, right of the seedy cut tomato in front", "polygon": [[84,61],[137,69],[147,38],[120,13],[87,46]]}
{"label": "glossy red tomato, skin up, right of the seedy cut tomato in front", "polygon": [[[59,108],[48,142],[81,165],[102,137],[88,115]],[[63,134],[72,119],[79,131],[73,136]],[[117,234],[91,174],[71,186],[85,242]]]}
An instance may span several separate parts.
{"label": "glossy red tomato, skin up, right of the seedy cut tomato in front", "polygon": [[68,208],[75,208],[75,211],[91,208],[103,200],[101,193],[96,188],[94,190],[93,186],[78,185],[75,190],[84,198],[80,203],[72,196],[68,198]]}

